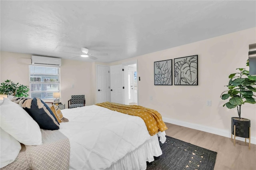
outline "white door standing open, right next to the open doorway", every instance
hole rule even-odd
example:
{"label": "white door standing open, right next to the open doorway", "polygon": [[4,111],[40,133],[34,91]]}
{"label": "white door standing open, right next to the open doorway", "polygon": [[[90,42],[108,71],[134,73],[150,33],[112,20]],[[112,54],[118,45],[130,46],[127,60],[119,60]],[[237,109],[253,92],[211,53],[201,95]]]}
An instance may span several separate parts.
{"label": "white door standing open, right next to the open doorway", "polygon": [[124,104],[123,65],[110,66],[111,102]]}

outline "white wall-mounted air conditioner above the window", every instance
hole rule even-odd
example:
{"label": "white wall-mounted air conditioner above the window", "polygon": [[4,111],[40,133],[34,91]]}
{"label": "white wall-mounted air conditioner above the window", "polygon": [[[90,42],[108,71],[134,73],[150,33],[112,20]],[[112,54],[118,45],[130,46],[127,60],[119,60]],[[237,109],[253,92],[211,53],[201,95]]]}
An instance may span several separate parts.
{"label": "white wall-mounted air conditioner above the window", "polygon": [[61,66],[61,59],[54,57],[43,57],[32,55],[32,64],[34,65],[51,65],[51,66]]}

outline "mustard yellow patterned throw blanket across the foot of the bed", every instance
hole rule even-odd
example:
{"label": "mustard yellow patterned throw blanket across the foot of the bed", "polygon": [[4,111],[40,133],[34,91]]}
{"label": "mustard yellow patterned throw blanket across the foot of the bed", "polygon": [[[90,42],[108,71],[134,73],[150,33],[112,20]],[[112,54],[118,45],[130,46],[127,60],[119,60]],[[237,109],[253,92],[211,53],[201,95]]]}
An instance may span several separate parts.
{"label": "mustard yellow patterned throw blanket across the foot of the bed", "polygon": [[151,136],[158,133],[159,131],[163,132],[164,130],[168,129],[164,121],[162,121],[162,116],[160,113],[153,109],[148,109],[138,105],[122,105],[110,102],[97,103],[96,105],[105,107],[112,111],[118,111],[120,113],[140,117],[145,122],[146,127],[148,128],[148,132]]}

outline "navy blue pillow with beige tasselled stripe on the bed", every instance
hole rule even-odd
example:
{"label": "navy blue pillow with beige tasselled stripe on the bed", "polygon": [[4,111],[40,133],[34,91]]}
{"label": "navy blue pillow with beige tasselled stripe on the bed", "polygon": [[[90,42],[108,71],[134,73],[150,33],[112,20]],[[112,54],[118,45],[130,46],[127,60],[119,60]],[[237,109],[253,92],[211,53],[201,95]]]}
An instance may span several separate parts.
{"label": "navy blue pillow with beige tasselled stripe on the bed", "polygon": [[58,130],[60,124],[51,109],[39,98],[33,98],[30,108],[24,107],[25,111],[38,123],[39,127],[46,130]]}

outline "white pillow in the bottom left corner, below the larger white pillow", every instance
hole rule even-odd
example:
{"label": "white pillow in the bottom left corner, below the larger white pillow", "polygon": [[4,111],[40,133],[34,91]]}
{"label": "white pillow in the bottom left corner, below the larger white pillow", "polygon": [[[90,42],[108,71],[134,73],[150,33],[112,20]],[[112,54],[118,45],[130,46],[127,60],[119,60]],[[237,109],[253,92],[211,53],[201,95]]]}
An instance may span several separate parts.
{"label": "white pillow in the bottom left corner, below the larger white pillow", "polygon": [[0,168],[12,163],[18,156],[21,146],[20,142],[0,128]]}

